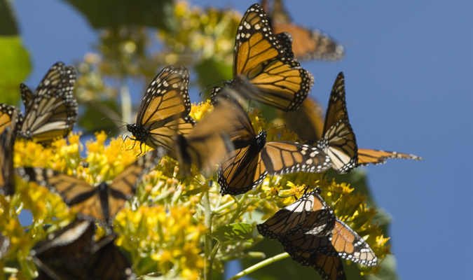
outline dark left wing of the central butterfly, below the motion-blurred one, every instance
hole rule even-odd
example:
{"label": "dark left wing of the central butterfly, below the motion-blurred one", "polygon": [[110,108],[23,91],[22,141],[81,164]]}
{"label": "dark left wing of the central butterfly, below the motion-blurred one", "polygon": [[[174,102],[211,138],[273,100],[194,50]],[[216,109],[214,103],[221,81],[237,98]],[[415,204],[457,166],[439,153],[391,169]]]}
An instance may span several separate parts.
{"label": "dark left wing of the central butterfly, below the motion-blurred one", "polygon": [[268,172],[254,144],[228,153],[217,169],[221,195],[239,195],[258,186]]}

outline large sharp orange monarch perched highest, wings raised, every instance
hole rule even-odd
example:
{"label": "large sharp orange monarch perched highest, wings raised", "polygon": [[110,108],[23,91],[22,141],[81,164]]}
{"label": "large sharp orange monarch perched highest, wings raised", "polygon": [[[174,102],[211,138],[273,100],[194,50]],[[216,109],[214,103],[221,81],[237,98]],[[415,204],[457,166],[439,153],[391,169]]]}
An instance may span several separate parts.
{"label": "large sharp orange monarch perched highest, wings raised", "polygon": [[[258,4],[249,7],[235,39],[233,80],[224,85],[239,90],[246,99],[294,111],[306,99],[313,83],[312,74],[287,57],[264,10]],[[212,102],[220,92],[221,87],[212,88]]]}

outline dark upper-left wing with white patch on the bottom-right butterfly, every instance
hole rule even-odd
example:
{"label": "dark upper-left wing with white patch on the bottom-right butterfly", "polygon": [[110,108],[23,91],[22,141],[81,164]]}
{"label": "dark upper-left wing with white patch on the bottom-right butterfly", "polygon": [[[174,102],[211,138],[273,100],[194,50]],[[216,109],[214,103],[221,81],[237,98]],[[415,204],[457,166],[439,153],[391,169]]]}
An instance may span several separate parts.
{"label": "dark upper-left wing with white patch on the bottom-right butterfly", "polygon": [[320,188],[315,188],[256,227],[264,237],[275,239],[298,232],[325,235],[334,225],[334,211],[320,197]]}

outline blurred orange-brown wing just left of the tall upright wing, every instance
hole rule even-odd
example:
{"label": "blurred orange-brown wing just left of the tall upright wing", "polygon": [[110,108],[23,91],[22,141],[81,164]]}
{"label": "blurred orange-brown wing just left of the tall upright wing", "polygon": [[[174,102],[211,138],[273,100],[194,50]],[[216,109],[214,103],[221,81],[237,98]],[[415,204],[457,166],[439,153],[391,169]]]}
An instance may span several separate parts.
{"label": "blurred orange-brown wing just left of the tall upright wing", "polygon": [[314,99],[307,97],[296,111],[282,113],[286,128],[297,134],[299,139],[313,145],[322,139],[324,130],[322,106]]}

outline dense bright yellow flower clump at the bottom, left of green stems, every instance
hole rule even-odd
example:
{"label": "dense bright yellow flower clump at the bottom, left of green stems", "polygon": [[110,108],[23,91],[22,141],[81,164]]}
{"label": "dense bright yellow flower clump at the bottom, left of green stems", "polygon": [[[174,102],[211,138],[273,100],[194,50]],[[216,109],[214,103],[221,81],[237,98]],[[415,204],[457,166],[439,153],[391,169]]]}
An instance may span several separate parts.
{"label": "dense bright yellow flower clump at the bottom, left of green stems", "polygon": [[[200,239],[207,228],[193,221],[191,207],[154,205],[136,211],[124,209],[116,216],[116,244],[130,251],[134,262],[155,260],[150,271],[177,273],[183,279],[198,279],[204,267]],[[137,271],[138,274],[146,273]]]}

